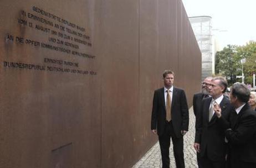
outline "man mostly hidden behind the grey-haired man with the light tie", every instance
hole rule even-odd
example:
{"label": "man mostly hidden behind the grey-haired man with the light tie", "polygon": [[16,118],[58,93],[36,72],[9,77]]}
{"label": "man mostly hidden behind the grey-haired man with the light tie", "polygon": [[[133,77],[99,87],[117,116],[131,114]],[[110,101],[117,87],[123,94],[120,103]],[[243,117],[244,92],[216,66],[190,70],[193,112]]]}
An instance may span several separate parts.
{"label": "man mostly hidden behind the grey-haired man with the light tie", "polygon": [[[211,83],[212,81],[212,77],[206,77],[203,82],[202,82],[202,90],[200,93],[196,93],[194,94],[193,96],[193,111],[194,111],[194,116],[197,117],[197,113],[199,113],[201,111],[201,107],[202,107],[202,100],[204,98],[207,98],[209,97],[209,91],[208,91],[208,87],[209,87],[209,84]],[[195,125],[196,129],[198,129],[198,126]],[[198,168],[201,168],[201,160],[200,160],[200,155],[199,153],[197,153],[197,165],[198,165]]]}

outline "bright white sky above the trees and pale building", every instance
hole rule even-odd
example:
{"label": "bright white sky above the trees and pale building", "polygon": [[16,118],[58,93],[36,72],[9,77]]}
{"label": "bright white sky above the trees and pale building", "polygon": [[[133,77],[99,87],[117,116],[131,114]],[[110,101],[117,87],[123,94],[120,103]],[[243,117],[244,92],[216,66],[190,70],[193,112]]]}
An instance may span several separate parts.
{"label": "bright white sky above the trees and pale building", "polygon": [[188,17],[212,17],[212,34],[219,49],[256,41],[255,0],[182,0]]}

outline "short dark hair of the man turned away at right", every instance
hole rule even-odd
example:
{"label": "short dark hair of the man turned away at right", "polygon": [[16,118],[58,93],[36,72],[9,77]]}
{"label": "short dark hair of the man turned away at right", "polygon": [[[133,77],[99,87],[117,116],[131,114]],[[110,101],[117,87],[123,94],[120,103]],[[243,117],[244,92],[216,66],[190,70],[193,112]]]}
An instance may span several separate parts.
{"label": "short dark hair of the man turned away at right", "polygon": [[243,103],[247,103],[250,98],[250,90],[243,83],[234,83],[231,88],[231,94]]}

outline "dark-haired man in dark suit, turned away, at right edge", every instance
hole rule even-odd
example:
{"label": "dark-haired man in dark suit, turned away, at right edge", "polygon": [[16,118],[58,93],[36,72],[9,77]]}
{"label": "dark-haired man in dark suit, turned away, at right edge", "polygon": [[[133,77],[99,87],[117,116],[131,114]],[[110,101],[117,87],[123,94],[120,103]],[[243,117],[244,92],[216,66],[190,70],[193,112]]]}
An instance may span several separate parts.
{"label": "dark-haired man in dark suit, turned away, at right edge", "polygon": [[231,129],[226,131],[229,144],[228,161],[232,168],[256,167],[256,113],[250,108],[250,91],[235,83],[231,89]]}

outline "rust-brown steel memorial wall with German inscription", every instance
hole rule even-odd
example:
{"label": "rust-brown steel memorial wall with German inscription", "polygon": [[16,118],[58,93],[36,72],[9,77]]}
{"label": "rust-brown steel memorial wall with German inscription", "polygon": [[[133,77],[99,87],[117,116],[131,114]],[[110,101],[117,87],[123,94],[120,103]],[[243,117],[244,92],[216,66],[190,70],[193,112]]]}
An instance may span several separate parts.
{"label": "rust-brown steel memorial wall with German inscription", "polygon": [[180,0],[1,1],[0,167],[131,167],[162,72],[188,102],[201,52]]}

